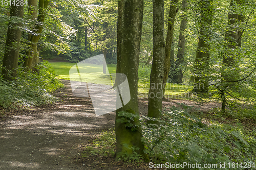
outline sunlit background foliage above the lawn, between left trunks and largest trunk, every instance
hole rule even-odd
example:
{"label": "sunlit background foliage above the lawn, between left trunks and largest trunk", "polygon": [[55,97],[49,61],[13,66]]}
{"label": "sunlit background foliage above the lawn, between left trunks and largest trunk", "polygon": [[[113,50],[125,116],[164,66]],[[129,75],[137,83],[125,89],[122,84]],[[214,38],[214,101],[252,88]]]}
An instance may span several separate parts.
{"label": "sunlit background foliage above the lawn, between left trunks and largest trunk", "polygon": [[80,62],[108,48],[116,64],[117,1],[53,1],[42,33],[41,57]]}

